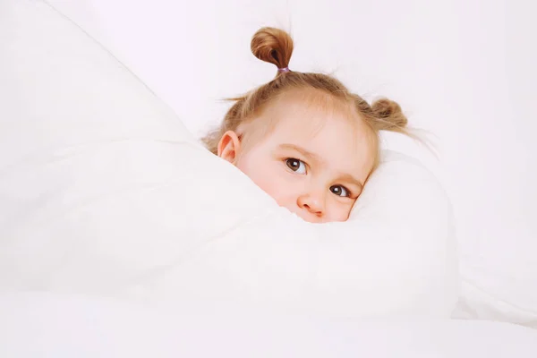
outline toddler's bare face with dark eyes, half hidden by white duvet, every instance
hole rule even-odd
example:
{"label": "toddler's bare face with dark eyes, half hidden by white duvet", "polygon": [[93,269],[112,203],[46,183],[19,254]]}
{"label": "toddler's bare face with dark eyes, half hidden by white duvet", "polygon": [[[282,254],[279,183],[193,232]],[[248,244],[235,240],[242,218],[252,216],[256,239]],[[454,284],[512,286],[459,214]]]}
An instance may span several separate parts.
{"label": "toddler's bare face with dark eyes, half hidden by white duvet", "polygon": [[235,166],[304,220],[345,221],[374,165],[371,130],[357,118],[292,98],[263,116],[275,120],[274,128],[236,153]]}

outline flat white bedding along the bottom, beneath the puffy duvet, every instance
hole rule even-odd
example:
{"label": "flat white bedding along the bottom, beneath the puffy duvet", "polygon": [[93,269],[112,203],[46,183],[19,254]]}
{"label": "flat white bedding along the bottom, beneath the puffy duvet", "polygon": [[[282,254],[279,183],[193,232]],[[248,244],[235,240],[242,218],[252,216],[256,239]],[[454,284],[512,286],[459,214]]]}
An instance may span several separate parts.
{"label": "flat white bedding along the bottom, beneath the puffy duvet", "polygon": [[537,331],[487,321],[303,319],[57,294],[0,296],[0,317],[10,358],[537,356]]}

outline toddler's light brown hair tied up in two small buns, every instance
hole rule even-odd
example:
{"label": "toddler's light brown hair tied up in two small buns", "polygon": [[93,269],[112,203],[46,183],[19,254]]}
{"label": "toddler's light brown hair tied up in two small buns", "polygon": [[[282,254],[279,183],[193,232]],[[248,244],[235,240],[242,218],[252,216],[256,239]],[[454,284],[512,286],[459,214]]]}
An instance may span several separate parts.
{"label": "toddler's light brown hair tied up in two small buns", "polygon": [[[396,102],[381,98],[370,105],[332,76],[289,71],[293,45],[293,38],[284,30],[262,28],[253,35],[251,53],[261,61],[275,64],[277,75],[274,80],[241,97],[230,98],[234,105],[227,111],[222,124],[201,139],[212,153],[217,154],[218,142],[225,132],[236,131],[239,125],[251,121],[268,103],[287,90],[320,90],[342,103],[350,104],[376,134],[377,143],[380,131],[411,135],[406,129],[408,121]],[[375,162],[378,163],[378,158]]]}

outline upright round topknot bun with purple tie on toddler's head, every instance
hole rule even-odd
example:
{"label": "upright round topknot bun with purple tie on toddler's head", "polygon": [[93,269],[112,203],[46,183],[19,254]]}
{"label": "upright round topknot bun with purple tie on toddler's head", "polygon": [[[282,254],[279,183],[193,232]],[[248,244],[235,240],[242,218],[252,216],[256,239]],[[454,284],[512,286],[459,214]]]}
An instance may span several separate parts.
{"label": "upright round topknot bun with purple tie on toddler's head", "polygon": [[251,38],[251,53],[278,69],[286,68],[293,54],[293,38],[284,30],[262,28]]}

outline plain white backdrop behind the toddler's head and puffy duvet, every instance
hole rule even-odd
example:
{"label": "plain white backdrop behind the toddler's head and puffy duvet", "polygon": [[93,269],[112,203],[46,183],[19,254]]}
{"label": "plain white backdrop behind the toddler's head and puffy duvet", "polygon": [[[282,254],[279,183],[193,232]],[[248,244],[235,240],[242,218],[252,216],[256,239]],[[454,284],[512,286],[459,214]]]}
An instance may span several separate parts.
{"label": "plain white backdrop behind the toddler's head and puffy duvet", "polygon": [[[439,176],[474,265],[537,257],[537,3],[533,0],[51,0],[200,134],[220,98],[269,81],[250,52],[261,26],[290,30],[295,71],[334,72],[400,103],[439,157],[390,135]],[[479,260],[482,260],[481,263]],[[518,264],[516,264],[518,262]],[[532,274],[526,272],[526,274]],[[537,297],[537,295],[536,295]]]}

